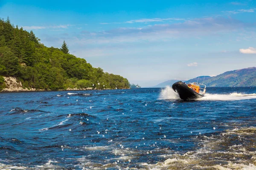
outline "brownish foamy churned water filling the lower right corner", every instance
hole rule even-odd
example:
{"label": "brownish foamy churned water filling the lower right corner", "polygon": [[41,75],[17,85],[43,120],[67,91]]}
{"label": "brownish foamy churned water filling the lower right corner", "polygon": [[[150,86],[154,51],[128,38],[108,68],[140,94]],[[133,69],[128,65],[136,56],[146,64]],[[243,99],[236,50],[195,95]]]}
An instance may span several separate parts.
{"label": "brownish foamy churned water filling the lower right corner", "polygon": [[165,161],[141,165],[150,170],[255,170],[255,134],[256,127],[245,127],[217,135],[196,136],[198,149],[184,154],[161,155]]}

